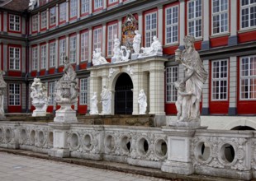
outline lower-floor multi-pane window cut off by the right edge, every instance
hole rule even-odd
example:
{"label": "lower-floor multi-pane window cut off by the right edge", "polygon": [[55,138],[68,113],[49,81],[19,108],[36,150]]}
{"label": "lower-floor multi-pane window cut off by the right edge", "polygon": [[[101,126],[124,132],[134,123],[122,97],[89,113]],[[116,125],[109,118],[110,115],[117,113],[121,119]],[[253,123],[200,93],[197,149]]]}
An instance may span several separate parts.
{"label": "lower-floor multi-pane window cut off by the right edge", "polygon": [[256,99],[256,55],[240,58],[240,100]]}

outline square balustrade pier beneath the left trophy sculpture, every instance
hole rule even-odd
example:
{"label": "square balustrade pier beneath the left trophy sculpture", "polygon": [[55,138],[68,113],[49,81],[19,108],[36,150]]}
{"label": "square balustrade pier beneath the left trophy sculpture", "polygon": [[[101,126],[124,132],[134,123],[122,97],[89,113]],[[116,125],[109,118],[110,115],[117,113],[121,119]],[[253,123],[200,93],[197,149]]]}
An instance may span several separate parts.
{"label": "square balustrade pier beneath the left trophy sculpture", "polygon": [[54,129],[54,148],[48,155],[55,157],[69,157],[69,147],[67,144],[67,132],[70,128],[69,123],[50,123],[50,128]]}

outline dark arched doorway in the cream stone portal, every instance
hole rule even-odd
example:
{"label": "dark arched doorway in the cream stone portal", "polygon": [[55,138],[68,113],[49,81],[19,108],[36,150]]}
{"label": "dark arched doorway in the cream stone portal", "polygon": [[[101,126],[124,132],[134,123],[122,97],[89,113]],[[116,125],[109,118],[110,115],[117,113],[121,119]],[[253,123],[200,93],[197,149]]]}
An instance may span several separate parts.
{"label": "dark arched doorway in the cream stone portal", "polygon": [[127,73],[122,73],[116,80],[115,114],[132,114],[133,84]]}

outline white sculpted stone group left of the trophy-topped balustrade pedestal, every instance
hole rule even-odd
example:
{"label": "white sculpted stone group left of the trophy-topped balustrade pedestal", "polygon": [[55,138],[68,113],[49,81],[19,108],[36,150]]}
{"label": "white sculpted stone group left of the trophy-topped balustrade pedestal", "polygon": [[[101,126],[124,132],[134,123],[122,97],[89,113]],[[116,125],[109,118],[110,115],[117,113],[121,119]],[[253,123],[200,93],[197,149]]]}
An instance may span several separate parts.
{"label": "white sculpted stone group left of the trophy-topped balustrade pedestal", "polygon": [[40,81],[40,78],[34,78],[31,85],[31,99],[33,106],[36,108],[32,116],[46,116],[48,97],[45,85]]}

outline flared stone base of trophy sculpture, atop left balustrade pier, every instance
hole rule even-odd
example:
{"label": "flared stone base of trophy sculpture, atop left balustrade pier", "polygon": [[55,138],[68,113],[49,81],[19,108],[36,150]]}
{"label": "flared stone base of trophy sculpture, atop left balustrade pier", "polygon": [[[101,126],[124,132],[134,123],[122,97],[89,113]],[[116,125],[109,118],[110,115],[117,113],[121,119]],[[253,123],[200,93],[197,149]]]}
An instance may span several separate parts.
{"label": "flared stone base of trophy sculpture, atop left balustrade pier", "polygon": [[59,104],[61,107],[56,111],[54,122],[73,123],[78,122],[76,111],[71,108],[72,104]]}

